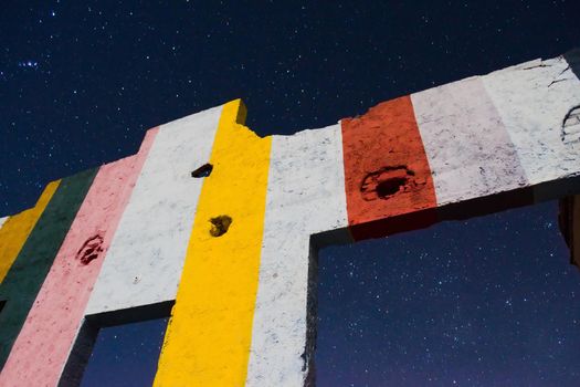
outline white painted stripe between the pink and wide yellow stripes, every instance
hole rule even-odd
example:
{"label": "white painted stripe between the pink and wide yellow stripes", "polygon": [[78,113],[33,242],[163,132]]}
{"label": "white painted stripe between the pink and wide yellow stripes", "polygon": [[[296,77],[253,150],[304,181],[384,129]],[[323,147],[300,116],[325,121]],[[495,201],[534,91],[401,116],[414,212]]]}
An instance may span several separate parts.
{"label": "white painted stripe between the pink and wide yellow stripes", "polygon": [[175,300],[221,106],[160,127],[86,314]]}

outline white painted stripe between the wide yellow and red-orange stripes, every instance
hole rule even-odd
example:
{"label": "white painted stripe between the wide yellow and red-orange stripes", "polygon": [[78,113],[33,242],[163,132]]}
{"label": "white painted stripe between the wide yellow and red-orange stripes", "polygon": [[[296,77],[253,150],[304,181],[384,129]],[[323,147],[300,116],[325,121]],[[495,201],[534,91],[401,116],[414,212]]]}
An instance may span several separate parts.
{"label": "white painted stripe between the wide yellow and red-orange stripes", "polygon": [[273,137],[246,386],[304,385],[309,237],[348,224],[341,137],[340,125]]}

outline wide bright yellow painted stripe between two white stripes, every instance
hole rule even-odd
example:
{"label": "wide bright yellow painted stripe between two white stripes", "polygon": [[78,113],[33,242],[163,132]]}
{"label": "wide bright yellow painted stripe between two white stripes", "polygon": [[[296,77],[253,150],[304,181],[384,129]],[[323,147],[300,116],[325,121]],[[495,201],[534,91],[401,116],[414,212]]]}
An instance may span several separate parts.
{"label": "wide bright yellow painted stripe between two white stripes", "polygon": [[[257,291],[272,138],[244,127],[240,100],[223,106],[155,386],[243,386]],[[228,216],[212,237],[211,218]]]}

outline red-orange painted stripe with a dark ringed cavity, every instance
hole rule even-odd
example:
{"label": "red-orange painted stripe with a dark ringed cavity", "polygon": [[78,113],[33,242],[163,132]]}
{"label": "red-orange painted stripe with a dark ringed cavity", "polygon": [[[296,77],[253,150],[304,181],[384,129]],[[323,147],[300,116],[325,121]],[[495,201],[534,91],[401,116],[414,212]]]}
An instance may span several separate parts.
{"label": "red-orange painted stripe with a dark ringed cavity", "polygon": [[436,220],[435,188],[409,96],[341,121],[345,189],[355,240]]}

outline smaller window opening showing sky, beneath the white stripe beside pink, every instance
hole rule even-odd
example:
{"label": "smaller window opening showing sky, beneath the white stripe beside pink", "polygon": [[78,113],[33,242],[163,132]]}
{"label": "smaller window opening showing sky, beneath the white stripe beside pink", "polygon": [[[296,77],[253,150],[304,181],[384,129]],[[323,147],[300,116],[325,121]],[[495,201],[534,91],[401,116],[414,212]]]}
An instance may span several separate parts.
{"label": "smaller window opening showing sky, beneath the white stripe beside pink", "polygon": [[81,386],[151,386],[167,322],[159,318],[101,328]]}

